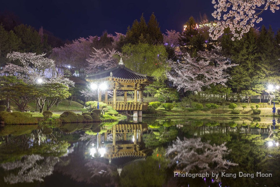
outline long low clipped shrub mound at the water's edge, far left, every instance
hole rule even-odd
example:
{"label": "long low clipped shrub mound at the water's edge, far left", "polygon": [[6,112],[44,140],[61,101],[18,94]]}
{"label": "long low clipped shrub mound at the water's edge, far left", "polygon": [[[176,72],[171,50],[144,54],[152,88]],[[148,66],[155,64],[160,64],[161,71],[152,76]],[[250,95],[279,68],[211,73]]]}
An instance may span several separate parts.
{"label": "long low clipped shrub mound at the water's edge, far left", "polygon": [[0,119],[5,124],[38,124],[38,119],[25,112],[0,112]]}

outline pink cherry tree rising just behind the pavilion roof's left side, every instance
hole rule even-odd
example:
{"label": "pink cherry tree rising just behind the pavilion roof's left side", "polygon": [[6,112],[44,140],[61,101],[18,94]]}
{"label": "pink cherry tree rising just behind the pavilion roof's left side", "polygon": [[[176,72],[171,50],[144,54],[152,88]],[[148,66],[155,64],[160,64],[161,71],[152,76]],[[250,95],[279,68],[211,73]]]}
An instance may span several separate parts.
{"label": "pink cherry tree rising just behind the pavilion roof's left side", "polygon": [[93,55],[90,55],[90,58],[87,59],[88,67],[86,70],[88,73],[96,73],[101,69],[106,70],[116,66],[116,58],[114,55],[118,54],[117,50],[93,49]]}

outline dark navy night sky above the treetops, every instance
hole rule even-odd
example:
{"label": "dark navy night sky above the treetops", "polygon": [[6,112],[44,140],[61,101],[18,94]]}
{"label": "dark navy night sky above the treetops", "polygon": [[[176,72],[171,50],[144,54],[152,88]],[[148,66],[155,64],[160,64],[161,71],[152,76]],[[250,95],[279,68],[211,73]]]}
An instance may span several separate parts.
{"label": "dark navy night sky above the treetops", "polygon": [[[211,13],[214,11],[212,0],[6,0],[0,5],[0,12],[8,11],[17,15],[24,24],[39,29],[43,26],[54,36],[62,39],[75,39],[89,35],[108,33],[126,33],[135,19],[144,13],[146,21],[154,12],[161,31],[166,29],[180,31],[190,16],[199,19],[199,14],[206,14],[214,20]],[[274,31],[280,28],[280,10],[272,13],[267,10],[262,15],[263,24],[272,25]]]}

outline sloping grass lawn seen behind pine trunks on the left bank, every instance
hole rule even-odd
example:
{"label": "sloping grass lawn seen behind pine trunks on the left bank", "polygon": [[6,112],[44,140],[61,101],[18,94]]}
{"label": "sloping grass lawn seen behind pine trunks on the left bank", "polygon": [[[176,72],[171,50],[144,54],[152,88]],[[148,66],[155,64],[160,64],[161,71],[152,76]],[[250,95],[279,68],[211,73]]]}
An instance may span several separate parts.
{"label": "sloping grass lawn seen behind pine trunks on the left bank", "polygon": [[[12,111],[19,111],[19,109],[17,108],[17,105],[11,103],[11,110]],[[32,101],[31,103],[29,103],[28,105],[31,106],[31,110],[30,111],[35,111],[36,109],[36,103],[35,101]],[[45,105],[43,111],[46,111],[47,107]],[[81,111],[81,109],[83,109],[83,105],[80,103],[77,103],[75,101],[71,102],[70,105],[70,101],[68,100],[63,100],[61,101],[61,103],[59,103],[59,105],[56,107],[55,105],[53,107],[50,108],[51,112],[54,111]]]}

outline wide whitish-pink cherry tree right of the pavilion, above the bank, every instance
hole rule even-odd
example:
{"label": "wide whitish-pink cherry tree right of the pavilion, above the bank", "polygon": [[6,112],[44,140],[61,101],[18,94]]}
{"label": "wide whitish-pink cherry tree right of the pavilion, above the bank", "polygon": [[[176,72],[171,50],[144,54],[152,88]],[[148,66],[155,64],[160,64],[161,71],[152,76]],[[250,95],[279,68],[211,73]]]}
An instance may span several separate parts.
{"label": "wide whitish-pink cherry tree right of the pavilion, above the bank", "polygon": [[169,61],[169,64],[173,70],[167,73],[168,79],[184,91],[201,91],[203,86],[224,84],[228,80],[225,70],[234,66],[219,54],[219,48],[198,52],[198,57],[186,53],[181,62]]}

